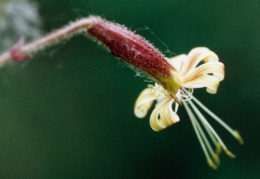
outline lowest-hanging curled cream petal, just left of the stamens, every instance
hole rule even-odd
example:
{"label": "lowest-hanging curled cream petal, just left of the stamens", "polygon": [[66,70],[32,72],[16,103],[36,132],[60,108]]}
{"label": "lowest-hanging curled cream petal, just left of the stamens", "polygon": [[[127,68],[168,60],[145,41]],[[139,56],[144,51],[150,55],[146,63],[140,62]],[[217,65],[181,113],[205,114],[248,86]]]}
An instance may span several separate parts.
{"label": "lowest-hanging curled cream petal, just left of the stamens", "polygon": [[174,99],[162,98],[153,110],[150,117],[150,125],[154,131],[160,131],[178,122],[179,116],[172,110]]}

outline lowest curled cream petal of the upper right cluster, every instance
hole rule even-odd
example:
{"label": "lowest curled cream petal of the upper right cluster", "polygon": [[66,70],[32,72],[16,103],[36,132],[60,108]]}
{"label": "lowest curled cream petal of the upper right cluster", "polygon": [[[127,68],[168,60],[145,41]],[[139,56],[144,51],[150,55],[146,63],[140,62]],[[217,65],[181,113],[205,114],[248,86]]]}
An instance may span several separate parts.
{"label": "lowest curled cream petal of the upper right cluster", "polygon": [[184,83],[185,88],[202,88],[206,87],[207,92],[215,94],[218,90],[219,80],[211,75],[198,75],[189,82]]}

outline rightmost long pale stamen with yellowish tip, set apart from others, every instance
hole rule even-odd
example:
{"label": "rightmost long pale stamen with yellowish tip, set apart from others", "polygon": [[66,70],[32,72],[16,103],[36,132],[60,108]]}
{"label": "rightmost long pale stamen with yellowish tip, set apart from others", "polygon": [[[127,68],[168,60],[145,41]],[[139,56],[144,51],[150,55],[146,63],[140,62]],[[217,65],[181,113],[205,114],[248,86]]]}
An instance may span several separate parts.
{"label": "rightmost long pale stamen with yellowish tip, set apart from others", "polygon": [[206,106],[204,106],[197,98],[193,96],[192,98],[206,113],[208,113],[213,119],[215,119],[220,125],[222,125],[227,131],[229,131],[234,138],[242,145],[244,141],[237,130],[233,130],[224,121],[222,121],[217,115],[210,111]]}

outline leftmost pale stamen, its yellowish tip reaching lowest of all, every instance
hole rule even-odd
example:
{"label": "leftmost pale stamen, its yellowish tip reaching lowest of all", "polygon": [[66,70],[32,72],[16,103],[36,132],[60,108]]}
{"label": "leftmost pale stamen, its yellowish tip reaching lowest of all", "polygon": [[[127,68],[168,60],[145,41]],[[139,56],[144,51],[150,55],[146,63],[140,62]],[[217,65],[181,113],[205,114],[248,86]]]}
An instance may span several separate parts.
{"label": "leftmost pale stamen, its yellowish tip reaching lowest of all", "polygon": [[196,122],[195,122],[195,121],[196,121],[195,116],[193,115],[191,109],[189,108],[189,106],[187,105],[186,102],[183,102],[183,105],[184,105],[184,107],[185,107],[185,109],[186,109],[186,111],[187,111],[187,113],[188,113],[188,115],[189,115],[189,118],[190,118],[190,120],[191,120],[192,126],[193,126],[193,128],[194,128],[195,133],[196,133],[196,136],[197,136],[197,138],[198,138],[198,140],[199,140],[199,143],[200,143],[200,145],[201,145],[201,147],[202,147],[202,150],[203,150],[203,152],[204,152],[204,154],[205,154],[205,156],[206,156],[208,165],[209,165],[211,168],[213,168],[213,169],[217,169],[217,166],[214,164],[214,162],[213,162],[212,159],[210,158],[209,153],[208,153],[208,151],[207,151],[207,149],[206,149],[206,146],[205,146],[205,144],[204,144],[204,142],[203,142],[203,140],[202,140],[202,138],[201,138],[201,134],[199,133],[199,131],[198,131],[198,129],[197,129]]}

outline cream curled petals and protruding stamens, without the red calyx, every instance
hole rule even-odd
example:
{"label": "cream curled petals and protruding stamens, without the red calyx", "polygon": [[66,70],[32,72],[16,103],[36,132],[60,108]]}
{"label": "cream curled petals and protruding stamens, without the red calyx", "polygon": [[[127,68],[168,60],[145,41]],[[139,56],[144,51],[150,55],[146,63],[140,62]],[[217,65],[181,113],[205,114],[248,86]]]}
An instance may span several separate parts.
{"label": "cream curled petals and protruding stamens, without the red calyx", "polygon": [[[218,155],[221,149],[232,158],[235,155],[227,149],[224,142],[195,104],[228,130],[241,144],[243,144],[243,140],[237,130],[231,129],[195,98],[192,93],[194,88],[206,87],[208,93],[215,94],[219,82],[224,79],[224,65],[219,62],[218,56],[214,52],[205,47],[194,48],[188,55],[182,54],[167,60],[177,70],[174,75],[181,86],[176,97],[183,103],[188,113],[209,166],[216,169],[220,163]],[[141,92],[134,106],[135,115],[138,118],[145,117],[155,100],[157,104],[150,116],[150,125],[154,131],[163,130],[180,120],[177,115],[179,104],[168,90],[157,83],[148,85],[148,88]],[[215,151],[211,143],[215,145]]]}

